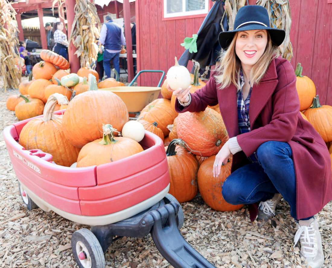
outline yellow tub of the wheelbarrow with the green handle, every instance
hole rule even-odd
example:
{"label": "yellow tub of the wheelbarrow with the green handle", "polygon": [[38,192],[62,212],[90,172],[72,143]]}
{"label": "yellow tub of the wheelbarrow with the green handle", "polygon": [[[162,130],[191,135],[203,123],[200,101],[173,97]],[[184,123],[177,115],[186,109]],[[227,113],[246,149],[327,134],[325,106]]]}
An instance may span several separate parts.
{"label": "yellow tub of the wheelbarrow with the green handle", "polygon": [[127,106],[128,112],[140,112],[147,104],[158,98],[160,87],[114,87],[109,90],[117,94]]}

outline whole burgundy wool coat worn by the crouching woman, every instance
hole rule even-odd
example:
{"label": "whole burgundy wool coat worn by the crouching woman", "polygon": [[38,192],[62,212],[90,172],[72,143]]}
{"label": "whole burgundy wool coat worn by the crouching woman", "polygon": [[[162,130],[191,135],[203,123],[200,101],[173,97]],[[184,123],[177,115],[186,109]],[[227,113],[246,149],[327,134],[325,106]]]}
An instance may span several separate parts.
{"label": "whole burgundy wool coat worn by the crouching woman", "polygon": [[[249,163],[247,156],[267,141],[287,142],[292,150],[296,176],[297,219],[318,213],[332,200],[331,158],[327,146],[313,126],[299,113],[296,76],[289,61],[273,59],[259,85],[254,85],[249,104],[251,131],[239,135],[236,87],[224,89],[212,77],[191,94],[190,105],[176,101],[178,112],[203,111],[219,103],[229,137],[237,136],[243,151],[233,155],[232,171]],[[280,167],[283,168],[283,167]],[[280,178],[282,179],[282,178]]]}

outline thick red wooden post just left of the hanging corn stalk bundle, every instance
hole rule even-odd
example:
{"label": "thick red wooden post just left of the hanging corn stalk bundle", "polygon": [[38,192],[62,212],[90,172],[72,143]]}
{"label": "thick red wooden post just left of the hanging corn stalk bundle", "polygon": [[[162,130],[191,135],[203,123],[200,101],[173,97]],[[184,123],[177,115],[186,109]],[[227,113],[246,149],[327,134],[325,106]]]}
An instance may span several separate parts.
{"label": "thick red wooden post just left of the hanging corn stalk bundle", "polygon": [[[68,27],[68,34],[71,33],[71,27],[73,25],[73,21],[75,18],[75,12],[74,12],[74,7],[75,7],[75,0],[66,0],[66,13],[67,13],[67,27]],[[68,36],[68,59],[70,63],[70,71],[72,73],[77,73],[78,69],[81,68],[80,60],[77,57],[75,53],[76,47],[72,43],[71,40],[69,40]]]}

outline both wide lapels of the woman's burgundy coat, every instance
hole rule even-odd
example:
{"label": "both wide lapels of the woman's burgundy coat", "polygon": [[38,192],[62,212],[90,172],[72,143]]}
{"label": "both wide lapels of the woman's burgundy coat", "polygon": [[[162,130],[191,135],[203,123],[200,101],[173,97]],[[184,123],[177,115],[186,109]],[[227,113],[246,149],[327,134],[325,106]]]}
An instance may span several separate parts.
{"label": "both wide lapels of the woman's burgundy coat", "polygon": [[[278,84],[277,78],[276,63],[275,59],[273,59],[262,81],[259,85],[253,86],[251,91],[249,104],[249,120],[251,129],[257,119],[257,116],[271,98]],[[220,112],[229,137],[235,137],[239,134],[236,91],[237,89],[234,85],[218,90],[218,99],[223,102],[219,105]]]}

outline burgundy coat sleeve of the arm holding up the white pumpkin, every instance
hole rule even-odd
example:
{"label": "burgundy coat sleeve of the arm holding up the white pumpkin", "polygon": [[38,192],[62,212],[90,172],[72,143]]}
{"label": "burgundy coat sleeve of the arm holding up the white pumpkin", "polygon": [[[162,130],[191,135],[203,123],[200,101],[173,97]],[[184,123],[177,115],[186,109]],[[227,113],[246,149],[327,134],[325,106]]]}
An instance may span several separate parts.
{"label": "burgundy coat sleeve of the arm holding up the white pumpkin", "polygon": [[178,99],[175,101],[175,110],[177,112],[201,112],[204,111],[207,105],[214,106],[218,104],[217,99],[217,87],[214,81],[214,77],[211,76],[206,85],[191,93],[191,102],[188,106],[182,106]]}

